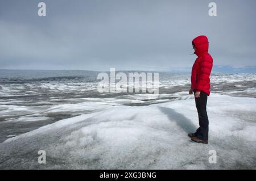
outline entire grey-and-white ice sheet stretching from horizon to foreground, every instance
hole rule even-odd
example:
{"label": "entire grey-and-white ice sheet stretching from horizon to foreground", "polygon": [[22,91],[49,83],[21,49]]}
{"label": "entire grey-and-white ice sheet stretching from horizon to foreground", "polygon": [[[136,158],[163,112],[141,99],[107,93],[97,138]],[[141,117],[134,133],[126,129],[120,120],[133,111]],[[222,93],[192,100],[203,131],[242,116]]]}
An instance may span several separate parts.
{"label": "entire grey-and-white ice sheet stretching from horizon to foreground", "polygon": [[0,169],[255,169],[256,74],[212,74],[200,145],[189,74],[160,73],[154,95],[100,94],[90,71],[1,71]]}

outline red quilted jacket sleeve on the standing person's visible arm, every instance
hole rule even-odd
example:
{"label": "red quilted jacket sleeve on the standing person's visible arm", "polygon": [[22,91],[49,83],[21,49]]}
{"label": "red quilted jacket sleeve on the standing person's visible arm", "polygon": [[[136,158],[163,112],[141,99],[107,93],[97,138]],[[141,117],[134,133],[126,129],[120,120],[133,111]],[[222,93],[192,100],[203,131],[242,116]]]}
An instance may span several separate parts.
{"label": "red quilted jacket sleeve on the standing person's visible arm", "polygon": [[199,63],[200,74],[196,83],[196,90],[201,91],[210,79],[210,71],[212,71],[212,58],[203,57]]}

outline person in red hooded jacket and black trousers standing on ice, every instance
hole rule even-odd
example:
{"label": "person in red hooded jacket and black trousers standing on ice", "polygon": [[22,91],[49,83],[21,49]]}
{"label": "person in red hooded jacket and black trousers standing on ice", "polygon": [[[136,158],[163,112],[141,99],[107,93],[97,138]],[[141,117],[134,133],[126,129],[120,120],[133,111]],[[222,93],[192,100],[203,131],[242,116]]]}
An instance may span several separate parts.
{"label": "person in red hooded jacket and black trousers standing on ice", "polygon": [[213,59],[208,53],[209,42],[207,36],[198,36],[192,41],[197,55],[191,73],[191,90],[195,94],[196,108],[199,116],[199,128],[195,133],[189,133],[192,141],[208,144],[209,120],[207,115],[207,96],[210,95],[210,72]]}

